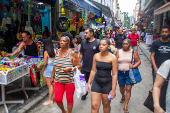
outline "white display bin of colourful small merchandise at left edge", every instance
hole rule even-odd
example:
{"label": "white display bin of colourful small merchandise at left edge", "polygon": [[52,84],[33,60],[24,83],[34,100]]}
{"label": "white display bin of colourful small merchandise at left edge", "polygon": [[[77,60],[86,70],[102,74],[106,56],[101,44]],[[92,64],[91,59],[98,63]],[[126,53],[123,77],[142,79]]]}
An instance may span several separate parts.
{"label": "white display bin of colourful small merchandise at left edge", "polygon": [[28,65],[23,59],[4,57],[0,62],[0,84],[7,85],[28,73]]}

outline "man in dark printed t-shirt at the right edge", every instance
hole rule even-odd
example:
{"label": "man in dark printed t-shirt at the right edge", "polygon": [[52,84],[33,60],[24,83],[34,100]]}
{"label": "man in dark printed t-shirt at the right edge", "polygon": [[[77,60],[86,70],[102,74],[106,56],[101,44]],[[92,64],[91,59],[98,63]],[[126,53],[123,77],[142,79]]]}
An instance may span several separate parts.
{"label": "man in dark printed t-shirt at the right edge", "polygon": [[153,83],[155,82],[156,73],[161,64],[170,59],[170,40],[168,38],[170,34],[170,26],[163,26],[161,35],[162,37],[153,41],[150,52],[152,62],[152,75]]}

